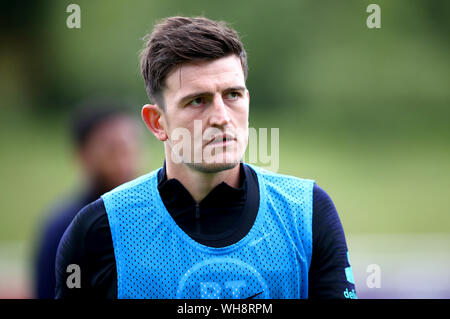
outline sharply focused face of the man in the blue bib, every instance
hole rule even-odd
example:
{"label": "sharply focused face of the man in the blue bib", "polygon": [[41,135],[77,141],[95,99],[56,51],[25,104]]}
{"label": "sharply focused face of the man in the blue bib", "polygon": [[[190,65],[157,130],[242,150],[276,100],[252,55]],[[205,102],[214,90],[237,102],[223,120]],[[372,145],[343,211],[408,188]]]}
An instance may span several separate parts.
{"label": "sharply focused face of the man in the blue bib", "polygon": [[178,161],[202,172],[236,166],[247,147],[249,111],[239,58],[182,64],[165,84],[161,124],[171,149],[166,157],[175,153]]}

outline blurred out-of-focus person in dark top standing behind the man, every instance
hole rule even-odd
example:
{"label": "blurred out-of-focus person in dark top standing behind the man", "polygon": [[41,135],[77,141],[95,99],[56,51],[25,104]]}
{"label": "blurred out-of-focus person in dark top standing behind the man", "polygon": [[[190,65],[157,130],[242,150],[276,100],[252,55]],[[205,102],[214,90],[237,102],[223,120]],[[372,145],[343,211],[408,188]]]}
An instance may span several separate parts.
{"label": "blurred out-of-focus person in dark top standing behind the man", "polygon": [[137,172],[137,126],[121,106],[86,102],[70,117],[75,154],[85,189],[58,204],[45,222],[35,260],[35,297],[55,297],[55,259],[59,241],[81,208],[133,179]]}

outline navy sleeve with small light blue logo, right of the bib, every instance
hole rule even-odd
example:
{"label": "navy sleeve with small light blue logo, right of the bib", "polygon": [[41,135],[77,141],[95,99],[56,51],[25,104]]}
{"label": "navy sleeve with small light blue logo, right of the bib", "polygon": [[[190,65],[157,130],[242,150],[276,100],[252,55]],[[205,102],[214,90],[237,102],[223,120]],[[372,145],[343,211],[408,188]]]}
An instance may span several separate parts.
{"label": "navy sleeve with small light blue logo, right of the bib", "polygon": [[313,190],[312,224],[309,298],[356,299],[344,229],[333,201],[318,185]]}

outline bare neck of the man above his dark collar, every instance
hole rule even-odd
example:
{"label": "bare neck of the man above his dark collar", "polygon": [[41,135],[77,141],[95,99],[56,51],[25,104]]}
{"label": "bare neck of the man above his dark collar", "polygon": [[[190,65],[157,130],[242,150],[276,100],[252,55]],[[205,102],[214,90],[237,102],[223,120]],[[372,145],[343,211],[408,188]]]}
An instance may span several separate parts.
{"label": "bare neck of the man above his dark collar", "polygon": [[238,187],[239,172],[239,164],[231,169],[215,173],[205,173],[189,167],[186,164],[176,164],[170,160],[166,160],[167,179],[176,178],[180,181],[197,203],[222,182],[227,183],[231,187]]}

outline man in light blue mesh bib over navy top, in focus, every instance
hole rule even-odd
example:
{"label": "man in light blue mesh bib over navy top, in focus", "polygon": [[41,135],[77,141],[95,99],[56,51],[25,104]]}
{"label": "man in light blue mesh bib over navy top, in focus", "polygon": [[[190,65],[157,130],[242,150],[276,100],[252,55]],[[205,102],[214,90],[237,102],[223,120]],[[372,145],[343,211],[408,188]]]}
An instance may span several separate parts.
{"label": "man in light blue mesh bib over navy top, in focus", "polygon": [[[167,18],[148,37],[141,70],[153,101],[142,118],[164,143],[165,163],[77,215],[58,249],[57,297],[354,292],[328,195],[314,181],[242,163],[250,96],[236,31],[203,17]],[[70,264],[80,288],[66,285]]]}

